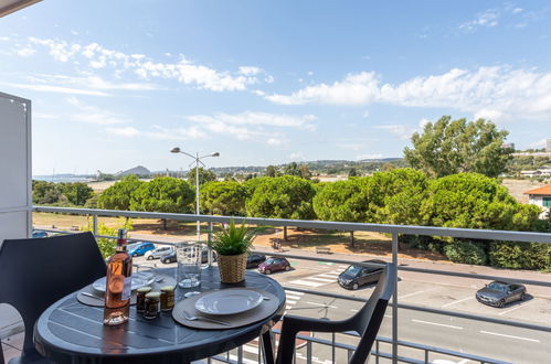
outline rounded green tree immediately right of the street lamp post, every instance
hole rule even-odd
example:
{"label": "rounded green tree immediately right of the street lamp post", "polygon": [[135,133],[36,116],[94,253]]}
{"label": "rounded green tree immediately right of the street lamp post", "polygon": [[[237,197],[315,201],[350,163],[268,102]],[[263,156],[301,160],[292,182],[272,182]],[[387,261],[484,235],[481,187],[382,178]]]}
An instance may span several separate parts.
{"label": "rounded green tree immediately right of the street lamp post", "polygon": [[211,215],[244,215],[246,193],[236,181],[205,183],[201,188],[201,210]]}

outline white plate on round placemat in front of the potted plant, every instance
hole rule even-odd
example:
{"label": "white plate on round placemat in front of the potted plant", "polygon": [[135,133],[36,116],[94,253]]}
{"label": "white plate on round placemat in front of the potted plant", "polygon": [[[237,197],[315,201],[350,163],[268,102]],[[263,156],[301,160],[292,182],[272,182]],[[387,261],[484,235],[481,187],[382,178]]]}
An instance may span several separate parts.
{"label": "white plate on round placemat in front of the potted plant", "polygon": [[222,289],[198,299],[195,309],[206,314],[235,314],[254,309],[263,300],[261,293],[250,289]]}

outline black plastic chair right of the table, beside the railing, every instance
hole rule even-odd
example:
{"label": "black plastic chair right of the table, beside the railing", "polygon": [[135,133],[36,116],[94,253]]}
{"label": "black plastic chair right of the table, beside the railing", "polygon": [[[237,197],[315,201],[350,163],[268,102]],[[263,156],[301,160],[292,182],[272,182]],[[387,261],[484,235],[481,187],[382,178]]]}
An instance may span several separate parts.
{"label": "black plastic chair right of the table, beside the railing", "polygon": [[394,293],[396,274],[394,265],[388,264],[384,268],[375,290],[363,308],[349,319],[341,321],[328,321],[310,318],[286,315],[283,320],[279,346],[277,349],[277,364],[293,363],[295,352],[295,339],[299,331],[317,332],[345,332],[356,331],[360,342],[350,357],[349,364],[363,364],[368,360],[371,346],[375,341],[377,333],[381,326],[384,311],[391,296]]}

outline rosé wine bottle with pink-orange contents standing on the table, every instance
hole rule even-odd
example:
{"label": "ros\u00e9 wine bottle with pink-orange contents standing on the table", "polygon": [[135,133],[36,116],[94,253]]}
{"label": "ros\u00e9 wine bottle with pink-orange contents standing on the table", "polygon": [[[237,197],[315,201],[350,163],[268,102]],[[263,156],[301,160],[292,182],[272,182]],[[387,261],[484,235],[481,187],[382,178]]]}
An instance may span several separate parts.
{"label": "ros\u00e9 wine bottle with pink-orange contents standing on the table", "polygon": [[128,321],[130,311],[133,258],[126,251],[126,231],[119,229],[117,251],[107,263],[104,324],[116,325]]}

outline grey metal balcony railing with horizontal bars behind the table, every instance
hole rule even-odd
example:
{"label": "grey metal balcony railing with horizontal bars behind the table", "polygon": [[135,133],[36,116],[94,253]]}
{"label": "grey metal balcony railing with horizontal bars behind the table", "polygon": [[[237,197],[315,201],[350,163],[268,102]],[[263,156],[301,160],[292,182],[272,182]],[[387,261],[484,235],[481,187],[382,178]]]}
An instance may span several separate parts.
{"label": "grey metal balcony railing with horizontal bars behind the table", "polygon": [[[399,236],[400,235],[418,235],[418,236],[441,236],[441,237],[458,237],[458,238],[470,238],[480,240],[500,240],[500,242],[524,242],[524,243],[542,243],[551,244],[551,234],[544,233],[524,233],[524,232],[507,232],[507,231],[489,231],[489,229],[467,229],[467,228],[446,228],[446,227],[428,227],[428,226],[406,226],[406,225],[382,225],[382,224],[363,224],[363,223],[342,223],[342,222],[320,222],[320,221],[298,221],[298,220],[276,220],[276,218],[255,218],[255,217],[226,217],[226,216],[212,216],[212,215],[194,215],[194,214],[169,214],[169,213],[146,213],[146,212],[131,212],[131,211],[112,211],[112,210],[87,210],[87,208],[65,208],[65,207],[47,207],[47,206],[34,206],[35,212],[49,212],[49,213],[62,213],[62,214],[75,214],[75,215],[88,215],[93,220],[93,233],[97,235],[97,221],[98,216],[125,216],[134,218],[165,218],[180,222],[197,222],[209,224],[209,231],[212,231],[213,223],[229,223],[231,218],[234,218],[236,223],[245,221],[247,224],[262,225],[262,226],[292,226],[301,228],[316,228],[316,229],[328,229],[328,231],[341,231],[341,232],[377,232],[385,233],[392,237],[392,261],[398,270],[412,271],[428,275],[441,275],[441,276],[455,276],[462,278],[476,278],[476,279],[487,279],[487,280],[508,280],[508,278],[492,276],[492,275],[479,275],[479,274],[466,274],[451,270],[439,270],[439,269],[424,269],[409,266],[399,266],[398,254],[399,254]],[[71,232],[66,232],[71,233]],[[106,236],[98,236],[106,237]],[[110,237],[114,238],[114,237]],[[209,235],[210,238],[210,235]],[[153,242],[158,244],[169,244],[166,242]],[[283,254],[277,251],[258,251],[272,256],[283,256],[294,259],[303,260],[315,260],[315,261],[326,261],[332,264],[354,264],[354,265],[365,265],[358,261],[350,261],[346,259],[333,259],[325,258],[319,256],[305,256],[305,255],[293,255]],[[396,275],[398,277],[398,275]],[[510,279],[509,279],[510,280]],[[532,280],[532,279],[516,279],[517,282],[548,287],[551,288],[550,281]],[[377,363],[381,362],[404,362],[404,363],[428,363],[437,354],[439,358],[444,357],[446,360],[463,360],[474,361],[479,363],[506,363],[501,360],[496,360],[491,357],[478,356],[469,353],[463,353],[446,349],[436,347],[434,345],[426,345],[417,342],[407,342],[400,340],[400,326],[399,326],[399,312],[401,310],[410,310],[414,312],[428,312],[433,314],[439,314],[451,318],[460,318],[475,320],[477,322],[488,322],[506,326],[516,326],[528,330],[534,330],[540,333],[551,333],[551,328],[542,324],[536,324],[522,321],[511,321],[498,318],[490,318],[480,314],[473,314],[466,312],[457,312],[444,309],[435,309],[425,306],[405,304],[399,302],[398,295],[398,278],[394,282],[395,293],[392,298],[391,307],[391,338],[378,336],[374,349],[372,350],[372,357]],[[299,289],[294,287],[285,287],[287,291],[294,291],[299,293],[309,293],[321,297],[328,297],[333,299],[349,300],[365,302],[365,299],[337,295],[333,292],[327,292],[321,290],[312,289]],[[277,333],[277,330],[275,330]],[[507,336],[507,335],[504,335]],[[314,338],[308,335],[300,335],[299,339],[305,341],[303,349],[297,350],[297,360],[305,361],[306,363],[325,363],[324,360],[317,358],[312,355],[312,346],[318,345],[330,347],[329,361],[333,363],[341,362],[349,357],[353,351],[354,335],[348,333],[346,335],[332,335],[330,340]],[[338,339],[338,340],[337,340]],[[342,341],[343,340],[343,341]],[[225,355],[219,355],[216,357],[209,358],[208,362],[224,362],[224,363],[257,363],[261,362],[259,353],[256,353],[257,349],[251,347],[239,347]]]}

